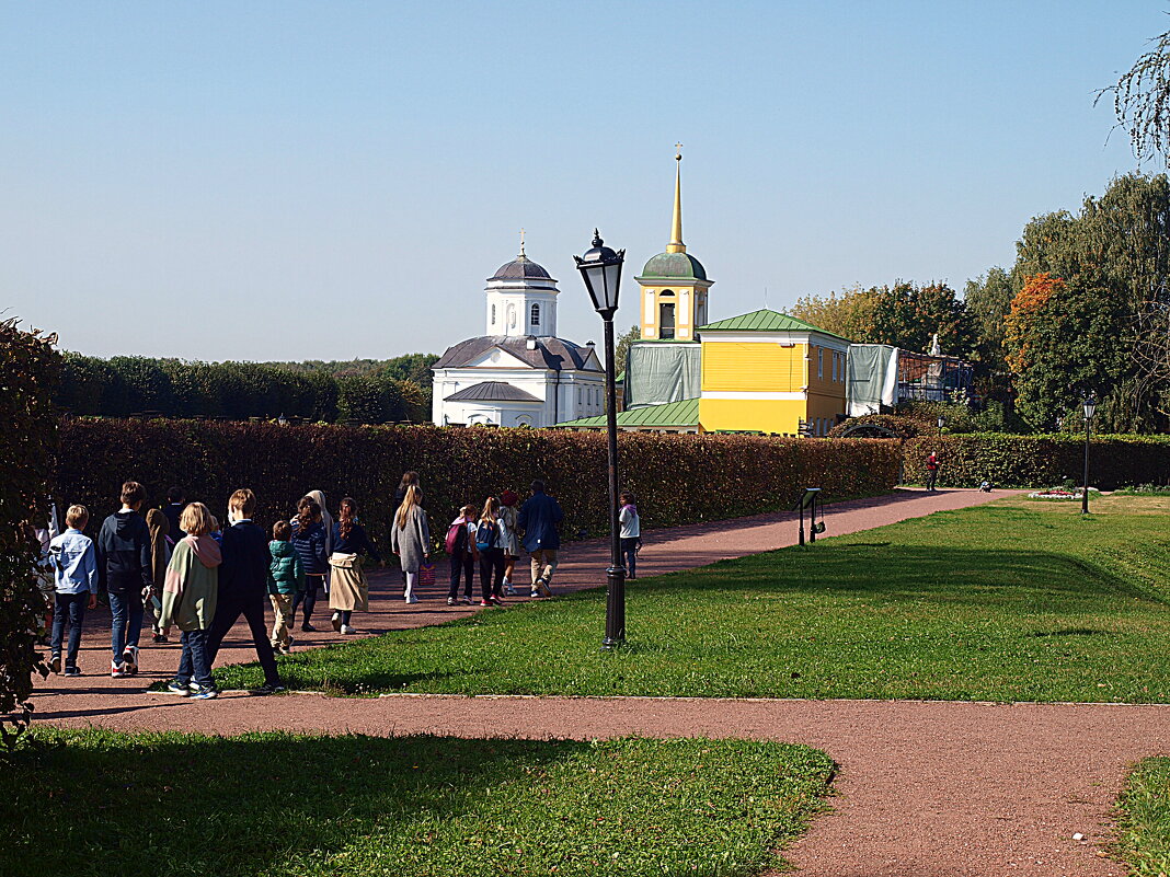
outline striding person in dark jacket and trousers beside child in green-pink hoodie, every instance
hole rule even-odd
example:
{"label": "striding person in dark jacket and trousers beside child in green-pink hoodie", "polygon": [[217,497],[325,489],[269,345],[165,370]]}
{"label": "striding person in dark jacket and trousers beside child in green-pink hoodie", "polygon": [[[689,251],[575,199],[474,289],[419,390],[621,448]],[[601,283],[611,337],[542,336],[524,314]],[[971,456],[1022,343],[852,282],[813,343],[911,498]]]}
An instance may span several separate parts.
{"label": "striding person in dark jacket and trousers beside child in green-pink hoodie", "polygon": [[268,640],[264,623],[264,605],[268,602],[268,567],[273,557],[268,551],[268,537],[252,520],[256,511],[256,495],[250,490],[238,490],[227,503],[228,524],[223,529],[220,564],[219,594],[215,601],[215,617],[207,633],[207,654],[212,663],[223,637],[243,615],[256,647],[256,657],[264,670],[264,684],[259,695],[283,691],[276,657]]}

